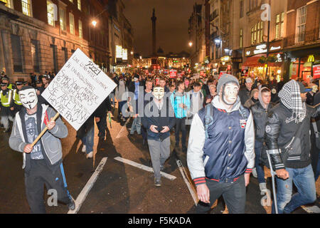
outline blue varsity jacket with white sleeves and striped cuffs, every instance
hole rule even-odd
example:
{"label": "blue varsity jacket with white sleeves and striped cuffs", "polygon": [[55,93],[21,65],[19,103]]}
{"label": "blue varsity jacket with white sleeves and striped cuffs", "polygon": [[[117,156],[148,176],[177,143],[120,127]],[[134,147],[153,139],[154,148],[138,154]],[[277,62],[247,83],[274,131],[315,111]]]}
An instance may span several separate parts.
{"label": "blue varsity jacket with white sleeves and striped cuffs", "polygon": [[255,128],[250,110],[247,120],[239,112],[240,98],[228,112],[215,96],[213,124],[208,126],[206,139],[206,108],[193,117],[188,141],[187,162],[196,185],[206,179],[217,182],[235,182],[255,166]]}

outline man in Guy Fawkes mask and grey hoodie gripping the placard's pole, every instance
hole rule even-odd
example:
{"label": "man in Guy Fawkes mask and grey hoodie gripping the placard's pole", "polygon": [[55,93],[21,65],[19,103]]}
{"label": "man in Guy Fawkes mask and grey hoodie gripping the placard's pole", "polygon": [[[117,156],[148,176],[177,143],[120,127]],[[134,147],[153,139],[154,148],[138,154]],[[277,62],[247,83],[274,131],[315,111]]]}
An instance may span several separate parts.
{"label": "man in Guy Fawkes mask and grey hoodie gripping the placard's pole", "polygon": [[[75,209],[75,202],[65,182],[60,142],[60,138],[68,136],[68,128],[61,118],[53,120],[55,110],[38,103],[36,90],[31,86],[21,88],[18,95],[23,108],[16,113],[9,145],[12,150],[23,153],[26,197],[31,213],[46,213],[43,204],[45,184],[48,190],[57,191],[58,201],[68,204],[69,209]],[[32,147],[33,140],[46,126],[48,130]]]}

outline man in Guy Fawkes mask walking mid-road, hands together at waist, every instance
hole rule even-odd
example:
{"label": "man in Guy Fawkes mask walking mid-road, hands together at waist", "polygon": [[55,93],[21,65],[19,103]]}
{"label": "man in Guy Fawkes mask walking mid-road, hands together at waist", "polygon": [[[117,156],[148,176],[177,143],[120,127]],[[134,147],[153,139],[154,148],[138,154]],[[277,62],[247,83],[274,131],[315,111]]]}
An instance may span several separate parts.
{"label": "man in Guy Fawkes mask walking mid-road, hands together at waist", "polygon": [[155,87],[153,100],[144,106],[142,125],[147,129],[148,145],[154,169],[154,185],[161,186],[160,171],[170,155],[170,131],[176,120],[170,99],[164,97],[164,88]]}

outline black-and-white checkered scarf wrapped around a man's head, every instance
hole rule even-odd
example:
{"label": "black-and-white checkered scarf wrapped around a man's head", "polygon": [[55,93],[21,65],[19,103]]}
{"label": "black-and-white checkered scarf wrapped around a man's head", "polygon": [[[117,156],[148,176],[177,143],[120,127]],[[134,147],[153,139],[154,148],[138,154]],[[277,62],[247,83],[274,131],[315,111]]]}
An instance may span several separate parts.
{"label": "black-and-white checkered scarf wrapped around a man's head", "polygon": [[295,120],[295,123],[301,123],[306,117],[306,103],[302,102],[297,81],[292,80],[285,83],[278,95],[284,106],[292,110],[292,116],[287,118],[286,122],[290,123]]}

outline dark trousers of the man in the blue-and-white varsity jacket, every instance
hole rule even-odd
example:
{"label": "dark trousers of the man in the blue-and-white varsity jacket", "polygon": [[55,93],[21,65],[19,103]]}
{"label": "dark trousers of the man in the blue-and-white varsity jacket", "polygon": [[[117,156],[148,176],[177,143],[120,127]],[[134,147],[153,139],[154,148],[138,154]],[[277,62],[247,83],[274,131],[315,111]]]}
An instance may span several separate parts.
{"label": "dark trousers of the man in the blue-and-white varsity jacket", "polygon": [[212,204],[221,195],[228,207],[229,214],[244,214],[245,213],[245,176],[242,175],[239,179],[232,183],[220,183],[214,180],[206,180],[206,185],[210,191],[210,204],[199,201],[196,207],[197,214],[208,212]]}

